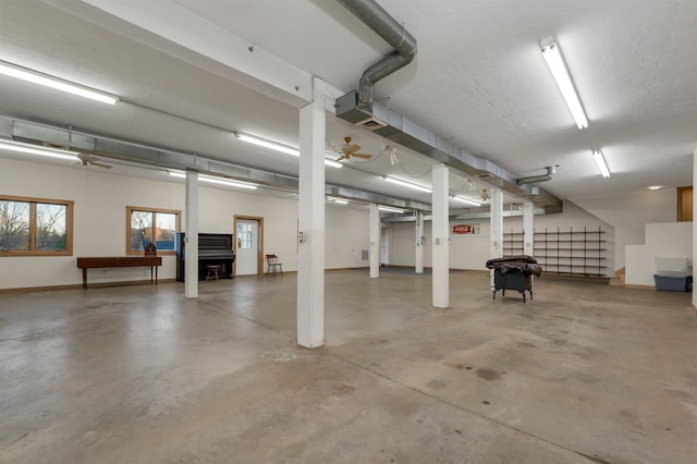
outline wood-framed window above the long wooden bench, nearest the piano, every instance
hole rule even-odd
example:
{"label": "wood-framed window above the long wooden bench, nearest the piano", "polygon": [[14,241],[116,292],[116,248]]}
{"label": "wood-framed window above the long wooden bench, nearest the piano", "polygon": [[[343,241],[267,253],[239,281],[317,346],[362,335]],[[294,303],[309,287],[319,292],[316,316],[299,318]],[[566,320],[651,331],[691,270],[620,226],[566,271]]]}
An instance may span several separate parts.
{"label": "wood-framed window above the long wooden bench, nearest the piano", "polygon": [[181,211],[172,209],[126,206],[126,254],[140,255],[148,243],[155,243],[158,254],[174,253],[181,216]]}

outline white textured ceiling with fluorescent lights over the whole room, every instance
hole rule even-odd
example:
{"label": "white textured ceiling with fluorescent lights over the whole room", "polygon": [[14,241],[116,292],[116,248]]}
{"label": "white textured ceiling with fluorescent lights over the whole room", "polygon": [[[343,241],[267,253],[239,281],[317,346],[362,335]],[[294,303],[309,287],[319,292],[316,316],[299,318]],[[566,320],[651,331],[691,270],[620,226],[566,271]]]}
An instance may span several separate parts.
{"label": "white textured ceiling with fluorescent lights over the whole room", "polygon": [[[0,0],[1,60],[123,98],[105,107],[0,76],[0,114],[297,174],[296,158],[248,146],[223,131],[297,146],[296,101],[278,99],[272,90],[262,95],[264,88],[239,70],[87,3],[159,11],[140,14],[146,16],[140,25],[158,32],[167,26],[164,13],[179,11],[189,26],[182,28],[181,41],[170,37],[174,41],[200,37],[198,51],[210,57],[224,52],[227,44],[205,37],[224,30],[254,46],[255,53],[318,75],[340,93],[357,88],[363,71],[391,51],[333,0]],[[416,38],[418,54],[376,85],[376,100],[515,176],[559,164],[554,179],[540,186],[561,198],[692,184],[697,2],[379,3]],[[541,58],[539,40],[550,35],[559,40],[586,108],[586,130],[576,129]],[[375,155],[388,143],[331,114],[327,131],[330,144],[340,146],[342,136],[351,135],[362,151]],[[599,175],[590,155],[595,148],[604,151],[610,179]],[[398,156],[401,164],[381,156],[352,169],[328,168],[327,182],[430,203],[428,194],[375,175],[430,185],[432,160],[399,147]],[[465,175],[453,173],[451,191],[468,195],[465,182]]]}

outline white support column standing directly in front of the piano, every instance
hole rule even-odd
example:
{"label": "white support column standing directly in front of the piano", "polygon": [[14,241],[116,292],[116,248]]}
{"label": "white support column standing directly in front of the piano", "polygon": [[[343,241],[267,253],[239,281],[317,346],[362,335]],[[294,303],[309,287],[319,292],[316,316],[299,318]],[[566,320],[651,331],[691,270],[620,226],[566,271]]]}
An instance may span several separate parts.
{"label": "white support column standing directly in front of the piano", "polygon": [[184,213],[186,229],[184,249],[184,296],[198,297],[198,172],[186,171]]}

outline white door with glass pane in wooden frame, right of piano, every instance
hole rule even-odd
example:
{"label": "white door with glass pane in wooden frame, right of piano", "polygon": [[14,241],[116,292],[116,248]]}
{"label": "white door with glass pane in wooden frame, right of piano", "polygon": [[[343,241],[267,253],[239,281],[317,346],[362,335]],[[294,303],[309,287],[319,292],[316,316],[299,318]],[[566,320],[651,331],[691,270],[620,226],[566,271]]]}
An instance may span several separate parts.
{"label": "white door with glass pane in wooden frame, right of piano", "polygon": [[264,273],[264,218],[235,216],[235,276]]}

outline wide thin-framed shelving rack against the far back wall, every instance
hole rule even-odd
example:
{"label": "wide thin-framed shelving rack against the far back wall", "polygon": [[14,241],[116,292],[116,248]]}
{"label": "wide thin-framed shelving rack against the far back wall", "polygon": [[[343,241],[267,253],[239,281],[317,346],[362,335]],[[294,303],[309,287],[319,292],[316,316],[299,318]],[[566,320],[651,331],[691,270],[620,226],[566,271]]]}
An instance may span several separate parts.
{"label": "wide thin-framed shelving rack against the far back wall", "polygon": [[[546,274],[587,278],[606,277],[606,240],[600,227],[589,230],[535,231],[535,259]],[[523,232],[503,233],[503,255],[523,254]]]}

